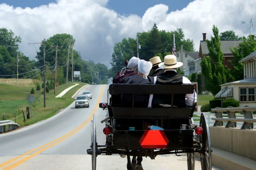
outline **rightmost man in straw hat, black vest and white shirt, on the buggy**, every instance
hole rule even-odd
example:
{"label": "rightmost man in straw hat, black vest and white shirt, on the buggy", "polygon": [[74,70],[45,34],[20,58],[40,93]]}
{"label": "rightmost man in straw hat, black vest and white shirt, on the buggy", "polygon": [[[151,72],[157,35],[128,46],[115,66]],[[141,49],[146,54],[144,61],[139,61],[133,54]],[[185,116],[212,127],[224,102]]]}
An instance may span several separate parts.
{"label": "rightmost man in straw hat, black vest and white shirt, on the buggy", "polygon": [[[177,73],[176,68],[182,66],[182,62],[177,62],[175,55],[166,55],[164,62],[158,64],[160,68],[164,69],[162,74],[156,77],[156,84],[182,84],[191,83],[191,81]],[[197,102],[197,94],[175,94],[174,107],[193,107]],[[154,95],[152,99],[152,107],[168,106],[171,104],[171,96],[168,95]]]}

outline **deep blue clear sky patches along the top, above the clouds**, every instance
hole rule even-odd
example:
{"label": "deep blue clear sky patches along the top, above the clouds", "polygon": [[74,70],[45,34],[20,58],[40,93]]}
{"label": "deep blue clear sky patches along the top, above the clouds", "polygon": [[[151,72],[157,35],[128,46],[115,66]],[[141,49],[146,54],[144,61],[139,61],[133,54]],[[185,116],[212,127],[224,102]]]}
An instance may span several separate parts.
{"label": "deep blue clear sky patches along the top, above the clouds", "polygon": [[[137,14],[143,16],[145,11],[155,4],[166,4],[170,11],[181,10],[193,0],[109,0],[106,7],[115,10],[123,15]],[[56,0],[0,0],[0,3],[6,3],[13,7],[34,8],[40,5],[47,5]]]}

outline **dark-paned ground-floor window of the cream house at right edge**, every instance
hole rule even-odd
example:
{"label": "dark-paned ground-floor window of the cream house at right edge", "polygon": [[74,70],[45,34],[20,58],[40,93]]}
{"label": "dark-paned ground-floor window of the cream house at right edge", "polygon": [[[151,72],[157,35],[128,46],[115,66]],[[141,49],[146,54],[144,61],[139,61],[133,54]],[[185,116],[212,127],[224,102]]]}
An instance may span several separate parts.
{"label": "dark-paned ground-floor window of the cream house at right edge", "polygon": [[255,102],[255,87],[241,87],[240,102]]}

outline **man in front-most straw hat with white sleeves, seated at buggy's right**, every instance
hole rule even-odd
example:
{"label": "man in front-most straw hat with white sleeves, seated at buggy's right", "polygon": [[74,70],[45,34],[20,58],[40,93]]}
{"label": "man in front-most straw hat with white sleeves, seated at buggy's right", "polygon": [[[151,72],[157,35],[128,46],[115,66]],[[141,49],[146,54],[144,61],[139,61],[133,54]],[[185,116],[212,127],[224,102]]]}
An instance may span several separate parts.
{"label": "man in front-most straw hat with white sleeves, seated at buggy's right", "polygon": [[[160,68],[164,69],[164,72],[157,76],[156,84],[191,83],[191,81],[187,77],[184,77],[177,73],[176,68],[179,68],[182,65],[183,65],[182,62],[177,62],[177,58],[175,55],[166,55],[164,58],[164,62],[158,64],[158,66]],[[155,96],[154,96],[154,98],[155,98]],[[154,101],[154,98],[153,98],[152,103],[157,101],[157,100]],[[162,102],[163,101],[167,102],[168,100],[170,100],[170,98],[163,99],[162,97],[161,98],[158,97],[158,100],[161,100]],[[175,100],[176,100],[177,106],[184,106],[184,103],[180,102],[180,101],[184,101],[181,99],[180,96],[175,97]],[[185,99],[186,106],[193,106],[196,102],[197,102],[197,94],[195,91],[193,94],[186,94],[186,99]],[[159,104],[159,101],[156,103]]]}

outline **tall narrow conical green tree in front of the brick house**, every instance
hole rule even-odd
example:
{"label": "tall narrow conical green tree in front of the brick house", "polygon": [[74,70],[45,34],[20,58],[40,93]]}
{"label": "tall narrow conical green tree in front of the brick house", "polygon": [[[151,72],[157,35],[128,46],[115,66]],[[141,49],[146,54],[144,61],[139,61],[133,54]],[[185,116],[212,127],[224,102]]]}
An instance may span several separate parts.
{"label": "tall narrow conical green tree in front of the brick house", "polygon": [[226,83],[226,71],[223,53],[221,51],[219,30],[215,25],[213,25],[213,35],[211,36],[211,40],[206,40],[209,56],[202,59],[200,66],[202,67],[202,74],[205,77],[206,89],[215,95],[220,90],[219,85]]}

